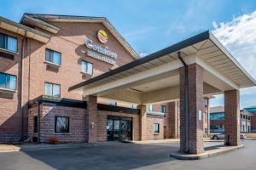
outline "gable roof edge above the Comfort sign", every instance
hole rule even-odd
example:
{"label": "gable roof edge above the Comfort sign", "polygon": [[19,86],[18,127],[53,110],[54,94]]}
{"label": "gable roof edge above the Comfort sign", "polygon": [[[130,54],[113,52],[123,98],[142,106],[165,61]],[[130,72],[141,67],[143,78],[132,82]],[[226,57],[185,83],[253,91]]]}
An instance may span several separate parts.
{"label": "gable roof edge above the Comfort sign", "polygon": [[[67,19],[67,20],[99,20],[99,21],[103,21],[106,22],[108,24],[108,26],[110,26],[113,31],[117,34],[118,37],[120,37],[120,39],[125,42],[126,46],[128,48],[130,48],[131,50],[131,55],[136,58],[139,59],[139,55],[137,54],[137,52],[131,47],[131,45],[125,40],[124,37],[122,37],[122,35],[119,33],[119,31],[117,31],[115,29],[115,27],[109,22],[109,20],[106,17],[96,17],[96,16],[79,16],[79,15],[63,15],[63,14],[29,14],[29,13],[25,13],[23,14],[27,15],[29,17],[32,18],[37,18],[37,19]],[[20,23],[22,22],[22,20],[24,20],[24,17],[21,18]],[[127,49],[126,49],[127,50]],[[129,52],[129,50],[127,50]]]}

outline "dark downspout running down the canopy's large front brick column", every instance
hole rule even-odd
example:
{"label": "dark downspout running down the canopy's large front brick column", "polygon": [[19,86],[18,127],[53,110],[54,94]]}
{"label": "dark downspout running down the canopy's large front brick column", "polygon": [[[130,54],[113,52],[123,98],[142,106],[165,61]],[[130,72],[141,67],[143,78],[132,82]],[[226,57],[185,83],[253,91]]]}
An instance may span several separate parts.
{"label": "dark downspout running down the canopy's large front brick column", "polygon": [[185,111],[185,152],[189,152],[189,68],[188,65],[185,63],[183,58],[181,57],[180,51],[177,52],[177,57],[183,63],[185,67],[185,90],[184,90],[184,111]]}

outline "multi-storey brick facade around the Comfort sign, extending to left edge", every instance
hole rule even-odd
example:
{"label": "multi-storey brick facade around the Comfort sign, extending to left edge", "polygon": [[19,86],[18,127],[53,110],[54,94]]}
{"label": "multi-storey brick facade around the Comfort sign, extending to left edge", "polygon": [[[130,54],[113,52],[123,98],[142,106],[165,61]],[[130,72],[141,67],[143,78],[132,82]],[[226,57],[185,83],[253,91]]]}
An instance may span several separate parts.
{"label": "multi-storey brick facade around the Comfort sign, extending to left edge", "polygon": [[[82,99],[80,94],[68,92],[71,86],[83,82],[85,79],[81,74],[81,60],[87,60],[94,65],[93,76],[109,71],[120,65],[131,62],[134,58],[125,48],[113,37],[113,35],[100,23],[51,23],[60,28],[58,34],[51,34],[49,42],[46,44],[36,40],[27,39],[24,51],[24,83],[23,83],[23,115],[24,134],[27,133],[28,125],[28,101],[44,94],[44,82],[61,84],[61,97],[67,99]],[[108,42],[102,44],[96,39],[96,32],[100,29],[107,31]],[[18,37],[18,54],[15,59],[3,59],[0,56],[0,72],[16,75],[18,77],[18,91],[13,99],[0,97],[0,142],[20,140],[20,87],[21,87],[21,39],[23,37],[0,29],[0,32],[13,37]],[[49,32],[48,32],[49,33]],[[90,37],[94,43],[102,47],[108,46],[109,50],[118,54],[117,65],[109,65],[98,59],[92,59],[82,51],[87,50],[84,41]],[[44,63],[45,48],[50,48],[61,52],[61,67],[56,71],[49,71]],[[72,78],[70,78],[72,77]],[[9,138],[10,137],[10,138]]]}

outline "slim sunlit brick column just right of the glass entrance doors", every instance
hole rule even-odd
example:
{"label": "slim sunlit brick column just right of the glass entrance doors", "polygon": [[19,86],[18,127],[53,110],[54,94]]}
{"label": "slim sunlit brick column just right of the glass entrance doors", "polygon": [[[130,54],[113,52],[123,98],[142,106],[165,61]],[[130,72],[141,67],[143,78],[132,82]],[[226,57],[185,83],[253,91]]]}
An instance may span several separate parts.
{"label": "slim sunlit brick column just right of the glass entrance doors", "polygon": [[140,140],[147,139],[147,106],[138,105],[140,110]]}

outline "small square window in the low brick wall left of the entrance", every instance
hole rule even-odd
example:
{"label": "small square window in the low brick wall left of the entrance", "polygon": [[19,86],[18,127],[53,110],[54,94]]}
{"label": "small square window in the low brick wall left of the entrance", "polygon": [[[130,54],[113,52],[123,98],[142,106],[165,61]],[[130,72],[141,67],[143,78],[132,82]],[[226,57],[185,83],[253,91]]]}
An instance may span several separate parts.
{"label": "small square window in the low brick wall left of the entrance", "polygon": [[55,133],[69,133],[69,117],[55,116]]}

